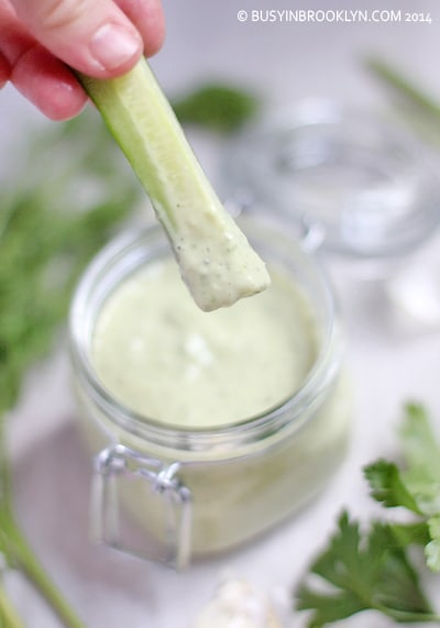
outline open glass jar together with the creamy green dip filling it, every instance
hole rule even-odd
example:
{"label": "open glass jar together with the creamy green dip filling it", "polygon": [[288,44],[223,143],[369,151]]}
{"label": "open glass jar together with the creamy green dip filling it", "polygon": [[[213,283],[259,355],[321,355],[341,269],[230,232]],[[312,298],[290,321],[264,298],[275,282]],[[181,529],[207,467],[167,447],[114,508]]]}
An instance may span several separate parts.
{"label": "open glass jar together with the creamy green dip filling it", "polygon": [[288,229],[240,223],[267,263],[264,293],[202,312],[152,228],[105,249],[72,308],[79,415],[97,454],[95,535],[177,568],[286,519],[348,442],[326,276]]}

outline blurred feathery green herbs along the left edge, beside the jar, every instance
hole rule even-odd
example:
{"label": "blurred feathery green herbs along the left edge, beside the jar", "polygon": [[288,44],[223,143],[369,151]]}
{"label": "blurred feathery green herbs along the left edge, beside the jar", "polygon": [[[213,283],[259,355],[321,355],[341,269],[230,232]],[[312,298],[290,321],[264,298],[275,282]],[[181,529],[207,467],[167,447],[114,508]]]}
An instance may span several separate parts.
{"label": "blurred feathery green herbs along the left edge, beside the jar", "polygon": [[78,275],[136,205],[138,186],[107,142],[89,113],[54,125],[32,140],[20,180],[0,191],[2,415],[51,346]]}

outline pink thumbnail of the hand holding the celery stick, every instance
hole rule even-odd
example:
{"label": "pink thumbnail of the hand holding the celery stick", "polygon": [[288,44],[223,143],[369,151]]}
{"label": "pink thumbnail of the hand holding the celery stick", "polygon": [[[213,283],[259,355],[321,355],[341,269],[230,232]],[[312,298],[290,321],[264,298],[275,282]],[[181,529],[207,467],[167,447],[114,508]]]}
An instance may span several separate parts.
{"label": "pink thumbnail of the hand holding the celery stick", "polygon": [[119,24],[105,24],[92,36],[89,49],[102,69],[117,69],[140,52],[140,35]]}

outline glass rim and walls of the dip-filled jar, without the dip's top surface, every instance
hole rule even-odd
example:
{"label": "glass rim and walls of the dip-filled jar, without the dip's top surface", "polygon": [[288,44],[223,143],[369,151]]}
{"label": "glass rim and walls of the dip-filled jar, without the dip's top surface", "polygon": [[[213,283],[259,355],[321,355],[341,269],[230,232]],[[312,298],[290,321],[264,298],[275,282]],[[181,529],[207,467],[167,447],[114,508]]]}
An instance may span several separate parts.
{"label": "glass rim and walls of the dip-filled jar, without the dip's top surface", "polygon": [[102,306],[139,268],[169,255],[160,227],[109,244],[86,271],[72,307],[78,414],[96,454],[94,537],[178,569],[286,519],[327,484],[348,442],[350,393],[326,275],[287,223],[261,216],[242,216],[240,223],[262,257],[299,286],[318,338],[299,388],[268,411],[217,427],[165,425],[123,405],[97,375],[91,344]]}

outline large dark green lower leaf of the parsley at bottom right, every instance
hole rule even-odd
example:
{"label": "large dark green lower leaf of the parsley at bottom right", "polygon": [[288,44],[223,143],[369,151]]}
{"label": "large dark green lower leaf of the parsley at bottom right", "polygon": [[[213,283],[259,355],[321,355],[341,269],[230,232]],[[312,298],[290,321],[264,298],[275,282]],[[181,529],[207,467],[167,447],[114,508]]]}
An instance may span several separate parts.
{"label": "large dark green lower leaf of the parsley at bottom right", "polygon": [[[327,591],[314,588],[311,575],[319,576]],[[375,521],[362,533],[359,522],[350,520],[346,513],[339,518],[339,529],[329,547],[299,584],[296,607],[312,612],[309,628],[369,609],[398,623],[439,619],[391,527]]]}

